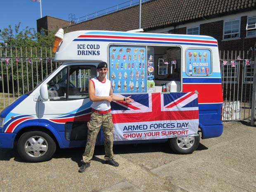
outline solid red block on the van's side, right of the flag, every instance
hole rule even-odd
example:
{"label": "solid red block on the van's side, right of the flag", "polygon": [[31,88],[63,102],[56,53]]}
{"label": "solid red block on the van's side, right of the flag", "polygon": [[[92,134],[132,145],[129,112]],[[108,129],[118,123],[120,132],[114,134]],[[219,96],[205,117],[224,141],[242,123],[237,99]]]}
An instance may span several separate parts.
{"label": "solid red block on the van's side, right of the flag", "polygon": [[183,92],[197,90],[198,103],[222,103],[222,85],[221,84],[183,84]]}

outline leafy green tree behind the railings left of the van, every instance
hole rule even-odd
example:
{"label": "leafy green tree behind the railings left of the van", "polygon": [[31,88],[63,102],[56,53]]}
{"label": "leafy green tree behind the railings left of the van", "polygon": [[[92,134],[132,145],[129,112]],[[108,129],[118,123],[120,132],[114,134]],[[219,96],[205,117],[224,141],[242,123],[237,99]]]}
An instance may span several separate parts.
{"label": "leafy green tree behind the railings left of the van", "polygon": [[[35,87],[38,81],[42,81],[42,78],[45,78],[52,68],[55,68],[56,65],[52,67],[51,59],[54,57],[54,54],[51,50],[54,34],[57,30],[48,32],[47,36],[41,36],[40,33],[36,33],[34,28],[29,28],[28,26],[20,30],[20,25],[21,22],[15,25],[14,29],[9,25],[0,32],[0,41],[2,41],[0,42],[0,59],[3,64],[6,64],[1,73],[4,79],[6,78],[5,83],[10,81],[9,85],[14,87],[17,87],[15,86],[17,82],[19,82],[20,88],[24,86],[23,84],[21,85],[21,78],[29,80],[26,81],[26,88],[22,88],[26,92],[26,90],[31,90]],[[9,65],[5,61],[6,58],[10,59]],[[16,58],[20,59],[17,63],[15,63]],[[13,72],[15,69],[16,71]],[[38,69],[40,74],[34,74]],[[10,79],[9,74],[12,74],[12,79]],[[12,90],[12,88],[9,89]],[[12,92],[11,90],[9,91]]]}

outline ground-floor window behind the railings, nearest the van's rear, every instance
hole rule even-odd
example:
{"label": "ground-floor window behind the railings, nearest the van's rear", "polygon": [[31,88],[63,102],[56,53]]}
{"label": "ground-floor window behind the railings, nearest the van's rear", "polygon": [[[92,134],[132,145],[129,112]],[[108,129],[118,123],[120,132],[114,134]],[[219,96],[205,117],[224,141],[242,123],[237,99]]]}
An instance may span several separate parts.
{"label": "ground-floor window behind the railings, nearest the van's rear", "polygon": [[225,65],[222,67],[222,73],[223,73],[223,83],[237,83],[238,80],[238,66],[235,65],[235,67],[232,67],[231,64]]}

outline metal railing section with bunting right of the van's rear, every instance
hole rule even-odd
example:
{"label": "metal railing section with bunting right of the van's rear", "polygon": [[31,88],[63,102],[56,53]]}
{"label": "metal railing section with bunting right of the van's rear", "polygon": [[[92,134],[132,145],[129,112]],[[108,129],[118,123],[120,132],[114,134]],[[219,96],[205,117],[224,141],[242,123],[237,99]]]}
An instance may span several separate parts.
{"label": "metal railing section with bunting right of the van's rear", "polygon": [[223,122],[250,121],[254,52],[220,51],[220,66],[223,87]]}

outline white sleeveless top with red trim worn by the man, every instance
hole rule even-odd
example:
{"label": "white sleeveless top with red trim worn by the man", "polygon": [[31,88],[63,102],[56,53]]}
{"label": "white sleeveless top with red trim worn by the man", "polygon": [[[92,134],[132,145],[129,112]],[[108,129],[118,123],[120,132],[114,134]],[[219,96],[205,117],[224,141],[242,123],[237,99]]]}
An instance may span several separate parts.
{"label": "white sleeveless top with red trim worn by the man", "polygon": [[[100,82],[96,77],[90,79],[92,81],[95,88],[95,96],[106,97],[109,96],[109,92],[111,89],[111,81],[105,78],[106,81]],[[92,102],[91,107],[97,111],[107,111],[110,107],[110,102],[108,101],[99,101]]]}

